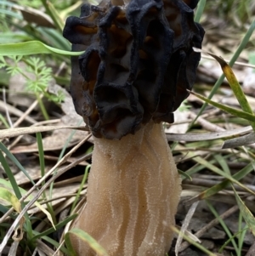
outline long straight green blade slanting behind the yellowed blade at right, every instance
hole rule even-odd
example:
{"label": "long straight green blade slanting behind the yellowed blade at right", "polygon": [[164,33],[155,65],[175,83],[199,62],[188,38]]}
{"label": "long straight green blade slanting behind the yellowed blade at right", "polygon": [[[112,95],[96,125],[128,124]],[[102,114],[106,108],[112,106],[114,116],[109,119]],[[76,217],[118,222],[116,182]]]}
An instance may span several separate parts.
{"label": "long straight green blade slanting behind the yellowed blade at right", "polygon": [[[241,54],[241,51],[246,47],[246,44],[249,42],[250,37],[252,36],[252,32],[255,30],[255,20],[252,21],[252,25],[249,27],[248,31],[246,31],[246,35],[242,38],[240,45],[238,46],[238,48],[235,51],[235,54],[233,55],[233,57],[231,58],[231,60],[229,61],[229,66],[233,66],[235,64],[235,60],[237,60],[237,58],[239,57],[239,55]],[[207,97],[207,99],[211,100],[212,96],[217,92],[219,86],[222,84],[222,82],[224,82],[224,74],[222,74],[217,82],[214,84],[211,93],[209,94],[209,96]],[[194,125],[195,121],[197,120],[197,118],[199,116],[201,116],[201,113],[205,110],[205,108],[207,107],[207,103],[204,103],[201,106],[200,111],[198,112],[197,116],[195,117],[195,119],[190,123],[190,126],[187,130],[187,132],[190,130],[190,128]]]}

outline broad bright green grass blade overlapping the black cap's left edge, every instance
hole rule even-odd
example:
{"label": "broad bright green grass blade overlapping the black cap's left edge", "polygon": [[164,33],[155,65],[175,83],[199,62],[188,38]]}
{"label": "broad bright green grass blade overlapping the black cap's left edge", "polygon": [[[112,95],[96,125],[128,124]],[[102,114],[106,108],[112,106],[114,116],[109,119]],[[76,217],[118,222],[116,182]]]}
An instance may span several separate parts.
{"label": "broad bright green grass blade overlapping the black cap's left edge", "polygon": [[71,52],[53,48],[45,43],[39,41],[30,41],[26,43],[8,43],[0,44],[0,56],[18,56],[18,55],[31,55],[31,54],[61,54],[77,56],[84,52]]}

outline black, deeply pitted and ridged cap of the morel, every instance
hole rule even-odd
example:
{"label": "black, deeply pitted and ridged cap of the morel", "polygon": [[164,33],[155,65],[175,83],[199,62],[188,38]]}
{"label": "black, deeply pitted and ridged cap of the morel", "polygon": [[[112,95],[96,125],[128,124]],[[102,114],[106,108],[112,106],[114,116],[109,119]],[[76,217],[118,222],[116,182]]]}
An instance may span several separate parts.
{"label": "black, deeply pitted and ridged cap of the morel", "polygon": [[195,82],[204,31],[197,0],[122,0],[82,6],[66,20],[72,50],[71,96],[94,136],[121,139],[150,120],[173,122]]}

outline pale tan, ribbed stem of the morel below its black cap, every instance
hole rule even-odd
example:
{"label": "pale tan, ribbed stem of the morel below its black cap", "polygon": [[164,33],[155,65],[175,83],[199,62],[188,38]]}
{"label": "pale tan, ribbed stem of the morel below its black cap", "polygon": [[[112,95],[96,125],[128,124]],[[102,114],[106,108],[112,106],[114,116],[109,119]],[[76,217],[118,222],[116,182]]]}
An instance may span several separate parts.
{"label": "pale tan, ribbed stem of the morel below its black cap", "polygon": [[[163,256],[173,240],[181,191],[161,124],[149,122],[120,140],[94,138],[88,202],[75,227],[111,256]],[[96,255],[71,237],[78,255]]]}

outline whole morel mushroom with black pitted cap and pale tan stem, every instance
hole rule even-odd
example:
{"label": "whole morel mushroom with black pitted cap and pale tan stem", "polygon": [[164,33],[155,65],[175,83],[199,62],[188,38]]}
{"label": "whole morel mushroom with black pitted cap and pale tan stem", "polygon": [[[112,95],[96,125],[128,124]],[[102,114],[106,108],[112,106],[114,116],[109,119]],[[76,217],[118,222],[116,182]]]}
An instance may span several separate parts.
{"label": "whole morel mushroom with black pitted cap and pale tan stem", "polygon": [[[128,2],[128,3],[127,3]],[[111,0],[66,20],[71,96],[94,135],[87,204],[74,226],[111,256],[165,255],[181,191],[161,122],[195,82],[197,0]],[[96,255],[77,236],[78,255]]]}

